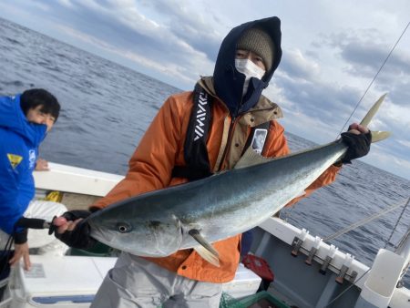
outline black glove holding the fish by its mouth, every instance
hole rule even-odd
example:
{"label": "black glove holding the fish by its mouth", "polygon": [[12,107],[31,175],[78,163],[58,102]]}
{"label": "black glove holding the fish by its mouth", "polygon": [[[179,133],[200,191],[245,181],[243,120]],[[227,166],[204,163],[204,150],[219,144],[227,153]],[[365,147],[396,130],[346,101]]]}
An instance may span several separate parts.
{"label": "black glove holding the fish by its mouth", "polygon": [[[63,214],[63,217],[66,218],[67,221],[76,221],[79,218],[87,218],[90,214],[91,211],[89,210],[69,210]],[[53,231],[55,231],[58,240],[63,241],[70,247],[90,249],[97,243],[96,240],[89,236],[90,228],[87,221],[79,221],[73,231],[58,233],[56,232],[56,226],[50,227],[50,232],[52,233]]]}

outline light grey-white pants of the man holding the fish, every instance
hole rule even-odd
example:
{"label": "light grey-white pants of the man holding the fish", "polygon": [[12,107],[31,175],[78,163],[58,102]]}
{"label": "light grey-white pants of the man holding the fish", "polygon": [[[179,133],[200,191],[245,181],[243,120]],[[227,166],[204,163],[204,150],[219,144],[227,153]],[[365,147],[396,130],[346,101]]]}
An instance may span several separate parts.
{"label": "light grey-white pants of the man holding the fish", "polygon": [[197,282],[122,252],[91,308],[218,308],[221,283]]}

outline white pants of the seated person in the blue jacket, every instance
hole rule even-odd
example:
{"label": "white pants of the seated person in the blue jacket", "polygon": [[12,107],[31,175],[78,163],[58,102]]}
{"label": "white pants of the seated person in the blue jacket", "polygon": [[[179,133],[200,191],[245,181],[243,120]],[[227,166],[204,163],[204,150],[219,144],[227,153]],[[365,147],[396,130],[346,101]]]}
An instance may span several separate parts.
{"label": "white pants of the seated person in the blue jacket", "polygon": [[[60,216],[67,211],[66,206],[52,201],[34,200],[30,202],[24,216],[26,218],[38,218],[51,221],[54,216]],[[4,250],[9,234],[0,230],[0,251]],[[38,248],[39,254],[64,255],[68,246],[56,239],[54,235],[48,235],[48,230],[29,229],[27,235],[29,248]]]}

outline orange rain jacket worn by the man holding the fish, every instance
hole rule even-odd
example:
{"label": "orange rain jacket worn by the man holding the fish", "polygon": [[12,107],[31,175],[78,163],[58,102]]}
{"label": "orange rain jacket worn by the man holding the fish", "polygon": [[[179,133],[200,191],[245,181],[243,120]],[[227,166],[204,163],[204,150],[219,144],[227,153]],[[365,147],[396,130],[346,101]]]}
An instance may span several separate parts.
{"label": "orange rain jacket worn by the man holding the fish", "polygon": [[[213,171],[232,169],[240,159],[242,150],[251,133],[251,128],[271,121],[262,155],[279,157],[290,152],[284,129],[276,121],[282,118],[282,110],[261,96],[254,108],[232,121],[228,108],[216,97],[212,78],[202,77],[201,87],[212,96],[212,120],[207,149]],[[184,142],[193,92],[183,92],[169,97],[159,109],[138,148],[129,160],[126,178],[118,183],[108,195],[97,200],[91,207],[103,208],[118,200],[124,200],[143,192],[159,190],[186,182],[186,179],[171,178],[174,166],[185,166]],[[331,183],[337,170],[330,167],[306,190],[310,194],[323,185]],[[296,200],[292,200],[294,203]],[[213,243],[220,254],[220,267],[203,260],[193,250],[182,250],[164,258],[146,258],[151,262],[179,275],[202,282],[229,282],[238,267],[241,252],[241,234]]]}

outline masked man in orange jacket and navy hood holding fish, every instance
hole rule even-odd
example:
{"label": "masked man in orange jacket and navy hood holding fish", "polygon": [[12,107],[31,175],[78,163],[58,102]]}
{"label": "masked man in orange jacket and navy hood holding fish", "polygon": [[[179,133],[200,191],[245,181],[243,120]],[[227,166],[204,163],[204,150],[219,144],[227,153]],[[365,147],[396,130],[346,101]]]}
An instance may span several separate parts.
{"label": "masked man in orange jacket and navy hood holding fish", "polygon": [[[233,28],[220,46],[213,76],[201,77],[194,91],[165,101],[129,160],[126,178],[90,210],[232,169],[249,147],[266,157],[288,154],[284,129],[277,122],[282,110],[261,95],[281,57],[278,17]],[[365,155],[370,147],[367,128],[354,128],[359,131],[351,134],[354,141],[344,162]],[[339,169],[327,169],[305,195],[331,183]],[[89,226],[81,223],[88,214],[67,212],[67,221],[56,223],[56,236],[70,246],[92,245]],[[165,258],[122,252],[92,307],[218,307],[221,283],[231,281],[238,267],[241,234],[212,245],[220,267],[190,249]]]}

